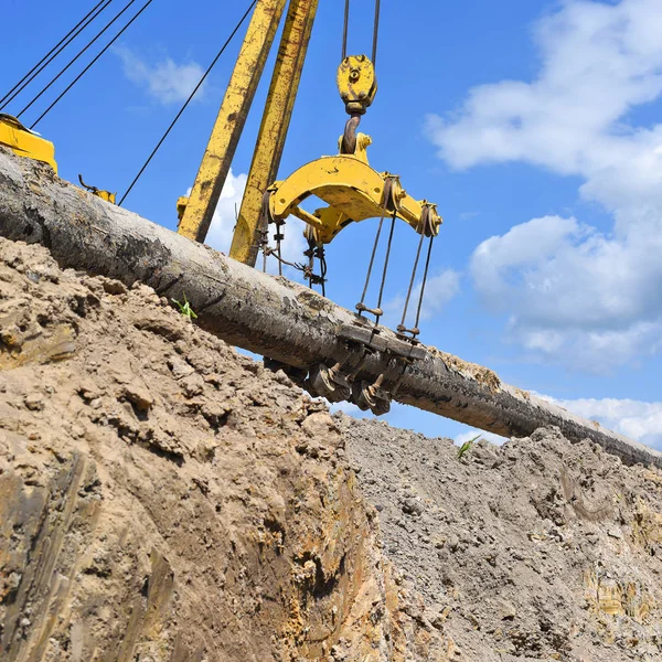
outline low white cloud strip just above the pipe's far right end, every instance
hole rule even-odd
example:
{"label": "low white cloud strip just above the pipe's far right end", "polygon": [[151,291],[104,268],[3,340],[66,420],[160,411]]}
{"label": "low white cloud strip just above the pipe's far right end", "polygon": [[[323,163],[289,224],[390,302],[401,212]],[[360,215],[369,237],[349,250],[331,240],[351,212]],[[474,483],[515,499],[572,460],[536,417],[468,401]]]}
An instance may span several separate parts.
{"label": "low white cloud strip just above the pipe's far right end", "polygon": [[630,439],[662,447],[662,403],[616,398],[557,399],[548,395],[536,395],[578,416],[598,420]]}

